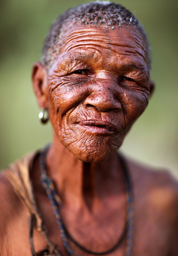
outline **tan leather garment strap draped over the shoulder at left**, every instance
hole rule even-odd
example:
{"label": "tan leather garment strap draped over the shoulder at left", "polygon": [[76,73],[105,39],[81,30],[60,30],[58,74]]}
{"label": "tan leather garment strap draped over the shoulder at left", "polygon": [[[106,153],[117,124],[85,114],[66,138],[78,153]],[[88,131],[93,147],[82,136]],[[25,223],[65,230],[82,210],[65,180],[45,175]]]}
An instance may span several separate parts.
{"label": "tan leather garment strap draped over the shoulder at left", "polygon": [[[8,168],[3,171],[12,188],[22,204],[29,212],[29,242],[32,256],[62,256],[55,248],[46,235],[46,228],[44,227],[43,220],[38,213],[34,195],[32,193],[32,183],[30,181],[30,170],[34,159],[38,156],[39,152],[33,152],[24,156],[22,159],[12,163]],[[35,252],[33,245],[33,230],[34,228],[42,234],[43,238],[48,244],[48,248]]]}

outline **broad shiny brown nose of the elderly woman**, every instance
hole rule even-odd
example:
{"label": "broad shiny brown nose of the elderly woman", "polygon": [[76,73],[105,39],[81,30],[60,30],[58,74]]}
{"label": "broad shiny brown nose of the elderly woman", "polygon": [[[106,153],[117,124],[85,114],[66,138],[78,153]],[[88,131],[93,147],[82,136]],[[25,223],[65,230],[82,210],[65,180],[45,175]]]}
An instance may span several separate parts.
{"label": "broad shiny brown nose of the elderly woman", "polygon": [[90,94],[84,100],[84,105],[86,107],[94,106],[101,112],[108,110],[118,112],[121,110],[121,103],[117,98],[117,93],[113,85],[104,83],[103,81],[92,86]]}

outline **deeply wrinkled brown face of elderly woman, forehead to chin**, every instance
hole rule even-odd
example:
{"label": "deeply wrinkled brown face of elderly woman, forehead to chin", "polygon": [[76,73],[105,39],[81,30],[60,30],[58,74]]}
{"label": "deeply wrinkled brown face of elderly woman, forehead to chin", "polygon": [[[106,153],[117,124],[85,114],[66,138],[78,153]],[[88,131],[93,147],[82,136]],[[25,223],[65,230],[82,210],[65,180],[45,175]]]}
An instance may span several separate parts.
{"label": "deeply wrinkled brown face of elderly woman, forehead to chin", "polygon": [[48,72],[54,132],[84,162],[102,162],[122,144],[148,104],[146,45],[131,26],[74,26]]}

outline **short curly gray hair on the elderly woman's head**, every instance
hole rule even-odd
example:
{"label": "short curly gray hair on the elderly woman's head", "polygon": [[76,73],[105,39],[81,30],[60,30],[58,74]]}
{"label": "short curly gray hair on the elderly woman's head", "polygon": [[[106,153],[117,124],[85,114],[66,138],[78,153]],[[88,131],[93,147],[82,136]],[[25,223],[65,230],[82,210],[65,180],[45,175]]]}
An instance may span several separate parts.
{"label": "short curly gray hair on the elderly woman's head", "polygon": [[48,69],[52,61],[60,53],[62,32],[68,24],[80,23],[84,25],[102,26],[105,30],[114,30],[124,25],[134,26],[142,34],[146,42],[148,54],[148,68],[150,69],[150,47],[148,37],[139,20],[120,4],[110,1],[96,1],[76,6],[62,13],[52,26],[44,40],[42,48],[42,64]]}

